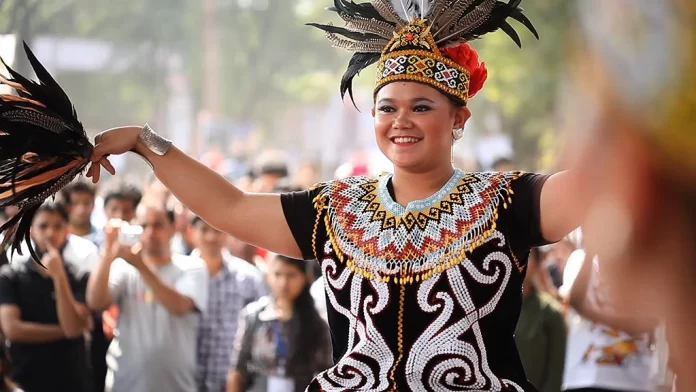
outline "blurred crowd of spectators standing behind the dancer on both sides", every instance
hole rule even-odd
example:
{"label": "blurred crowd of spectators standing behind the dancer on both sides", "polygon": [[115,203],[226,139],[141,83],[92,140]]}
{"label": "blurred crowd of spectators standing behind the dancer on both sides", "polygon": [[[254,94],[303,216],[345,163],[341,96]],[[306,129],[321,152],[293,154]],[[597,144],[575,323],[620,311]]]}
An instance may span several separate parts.
{"label": "blurred crowd of spectators standing behind the dancer on both sides", "polygon": [[[278,159],[243,173],[234,182],[255,192],[322,180]],[[318,263],[217,231],[154,178],[73,182],[39,208],[31,236],[46,268],[26,248],[3,255],[0,390],[299,391],[335,359]],[[516,332],[529,380],[541,392],[669,391],[663,328],[616,316],[598,263],[579,231],[532,251]]]}

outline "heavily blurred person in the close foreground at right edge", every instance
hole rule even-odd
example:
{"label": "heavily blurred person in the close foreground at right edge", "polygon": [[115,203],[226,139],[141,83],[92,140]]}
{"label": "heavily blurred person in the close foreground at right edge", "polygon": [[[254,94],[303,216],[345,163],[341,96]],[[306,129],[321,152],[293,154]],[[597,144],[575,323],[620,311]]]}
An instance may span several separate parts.
{"label": "heavily blurred person in the close foreground at right edge", "polygon": [[586,0],[568,94],[589,252],[616,306],[665,320],[679,392],[696,390],[696,3]]}

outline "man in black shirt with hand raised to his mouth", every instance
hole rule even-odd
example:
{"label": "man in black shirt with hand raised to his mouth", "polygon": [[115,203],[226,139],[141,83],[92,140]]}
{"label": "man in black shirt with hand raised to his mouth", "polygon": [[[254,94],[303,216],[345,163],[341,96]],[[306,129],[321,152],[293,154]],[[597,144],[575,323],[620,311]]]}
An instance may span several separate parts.
{"label": "man in black shirt with hand raised to his mouth", "polygon": [[9,341],[12,378],[26,392],[91,392],[84,333],[90,313],[84,305],[88,274],[63,260],[68,213],[42,205],[31,226],[41,262],[13,255],[0,269],[0,327]]}

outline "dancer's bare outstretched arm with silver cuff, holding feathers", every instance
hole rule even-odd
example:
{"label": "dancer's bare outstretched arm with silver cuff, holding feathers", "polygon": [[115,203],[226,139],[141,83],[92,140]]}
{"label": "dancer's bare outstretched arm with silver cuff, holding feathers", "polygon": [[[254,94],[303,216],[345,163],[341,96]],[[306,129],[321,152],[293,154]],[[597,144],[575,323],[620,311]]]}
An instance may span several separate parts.
{"label": "dancer's bare outstretched arm with silver cuff, holding feathers", "polygon": [[123,127],[97,136],[87,174],[99,180],[100,165],[114,174],[106,156],[131,149],[147,159],[157,178],[194,214],[241,241],[288,257],[302,258],[285,219],[280,195],[246,193],[175,146],[160,156],[138,139],[141,127]]}

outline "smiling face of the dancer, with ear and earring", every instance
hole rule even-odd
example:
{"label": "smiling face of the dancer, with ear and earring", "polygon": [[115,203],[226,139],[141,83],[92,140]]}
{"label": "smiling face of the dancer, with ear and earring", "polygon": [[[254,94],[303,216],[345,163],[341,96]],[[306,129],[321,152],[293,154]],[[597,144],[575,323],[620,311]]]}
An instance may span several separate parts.
{"label": "smiling face of the dancer, with ear and earring", "polygon": [[471,113],[433,87],[394,82],[379,90],[372,115],[382,153],[400,169],[423,172],[450,164],[452,130]]}

